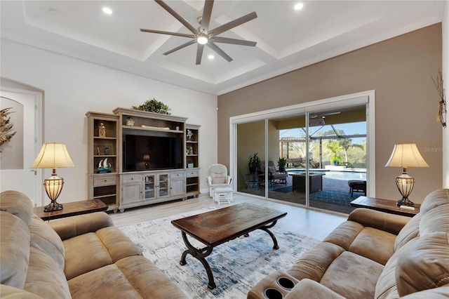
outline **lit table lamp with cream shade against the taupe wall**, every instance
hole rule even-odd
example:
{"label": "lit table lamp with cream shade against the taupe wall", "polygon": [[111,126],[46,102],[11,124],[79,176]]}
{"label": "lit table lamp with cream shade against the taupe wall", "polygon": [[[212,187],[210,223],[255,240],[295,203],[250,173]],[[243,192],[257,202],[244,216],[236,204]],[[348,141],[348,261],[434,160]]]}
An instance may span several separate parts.
{"label": "lit table lamp with cream shade against the taupe wall", "polygon": [[412,193],[415,179],[407,174],[407,167],[429,167],[426,161],[422,158],[415,143],[408,143],[402,145],[394,145],[393,152],[390,159],[385,164],[385,167],[402,167],[402,174],[396,176],[396,187],[401,192],[402,199],[396,201],[398,206],[415,206],[413,201],[408,199]]}

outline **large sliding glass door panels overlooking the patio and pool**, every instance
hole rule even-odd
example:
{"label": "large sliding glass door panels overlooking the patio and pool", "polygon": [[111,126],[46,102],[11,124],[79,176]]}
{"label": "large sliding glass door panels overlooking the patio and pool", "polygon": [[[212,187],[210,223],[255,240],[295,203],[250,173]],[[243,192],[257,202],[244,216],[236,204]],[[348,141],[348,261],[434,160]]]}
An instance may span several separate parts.
{"label": "large sliding glass door panels overlooking the patio and pool", "polygon": [[350,201],[369,186],[367,105],[351,104],[288,109],[236,124],[236,190],[349,213]]}

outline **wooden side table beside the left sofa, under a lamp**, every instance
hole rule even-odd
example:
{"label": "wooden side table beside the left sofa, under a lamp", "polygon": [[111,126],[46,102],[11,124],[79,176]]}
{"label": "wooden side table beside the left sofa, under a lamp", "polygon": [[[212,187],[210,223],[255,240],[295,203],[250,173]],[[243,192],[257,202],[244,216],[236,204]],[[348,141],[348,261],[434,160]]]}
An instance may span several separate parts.
{"label": "wooden side table beside the left sofa, under a lamp", "polygon": [[107,204],[100,199],[89,199],[83,201],[67,202],[62,204],[63,208],[60,211],[44,212],[43,206],[34,208],[34,213],[42,220],[53,220],[59,218],[70,217],[74,215],[81,215],[93,212],[101,212],[107,210]]}

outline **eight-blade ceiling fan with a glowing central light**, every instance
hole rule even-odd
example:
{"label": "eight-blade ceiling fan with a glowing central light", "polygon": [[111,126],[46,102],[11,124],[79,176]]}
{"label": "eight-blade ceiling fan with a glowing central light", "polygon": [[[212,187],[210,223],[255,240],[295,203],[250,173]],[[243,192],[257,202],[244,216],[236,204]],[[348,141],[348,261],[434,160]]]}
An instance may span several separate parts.
{"label": "eight-blade ceiling fan with a glowing central light", "polygon": [[187,27],[187,29],[189,29],[190,32],[192,32],[192,34],[183,34],[178,32],[140,29],[141,32],[168,34],[173,36],[188,37],[192,39],[191,41],[187,41],[187,43],[182,44],[181,46],[177,46],[176,48],[173,48],[170,51],[163,53],[163,55],[168,55],[170,53],[173,53],[177,50],[180,50],[193,44],[198,44],[198,48],[196,49],[196,65],[201,64],[201,57],[203,56],[203,50],[205,45],[211,48],[213,51],[215,51],[218,55],[222,56],[222,58],[225,58],[225,60],[227,60],[228,62],[231,62],[232,58],[229,57],[229,55],[227,55],[224,51],[222,51],[222,49],[219,48],[215,43],[235,44],[240,46],[255,46],[257,44],[255,41],[244,41],[242,39],[229,39],[227,37],[217,36],[219,34],[222,34],[223,32],[226,32],[229,29],[232,29],[234,27],[242,25],[243,23],[246,23],[250,20],[257,18],[257,14],[254,11],[253,13],[248,13],[248,15],[243,15],[243,17],[241,18],[238,18],[231,22],[227,22],[224,25],[209,30],[209,22],[210,22],[210,15],[212,14],[213,0],[205,0],[203,15],[198,17],[197,19],[200,26],[197,29],[195,29],[194,26],[190,25],[190,23],[187,22],[187,20],[182,18],[175,11],[173,11],[173,9],[170,8],[170,6],[168,6],[166,3],[164,3],[161,0],[154,0],[154,1],[156,1],[156,3],[159,4],[160,6],[162,6],[163,9],[168,11],[170,15],[173,15],[173,17],[175,17],[178,21],[180,21],[182,25]]}

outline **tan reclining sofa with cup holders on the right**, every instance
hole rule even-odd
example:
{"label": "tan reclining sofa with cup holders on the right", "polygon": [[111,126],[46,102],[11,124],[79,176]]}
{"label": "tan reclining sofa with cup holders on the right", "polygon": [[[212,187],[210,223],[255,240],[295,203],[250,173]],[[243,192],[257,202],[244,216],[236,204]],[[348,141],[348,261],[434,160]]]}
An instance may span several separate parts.
{"label": "tan reclining sofa with cup holders on the right", "polygon": [[248,299],[449,298],[449,189],[431,192],[413,218],[358,208]]}

